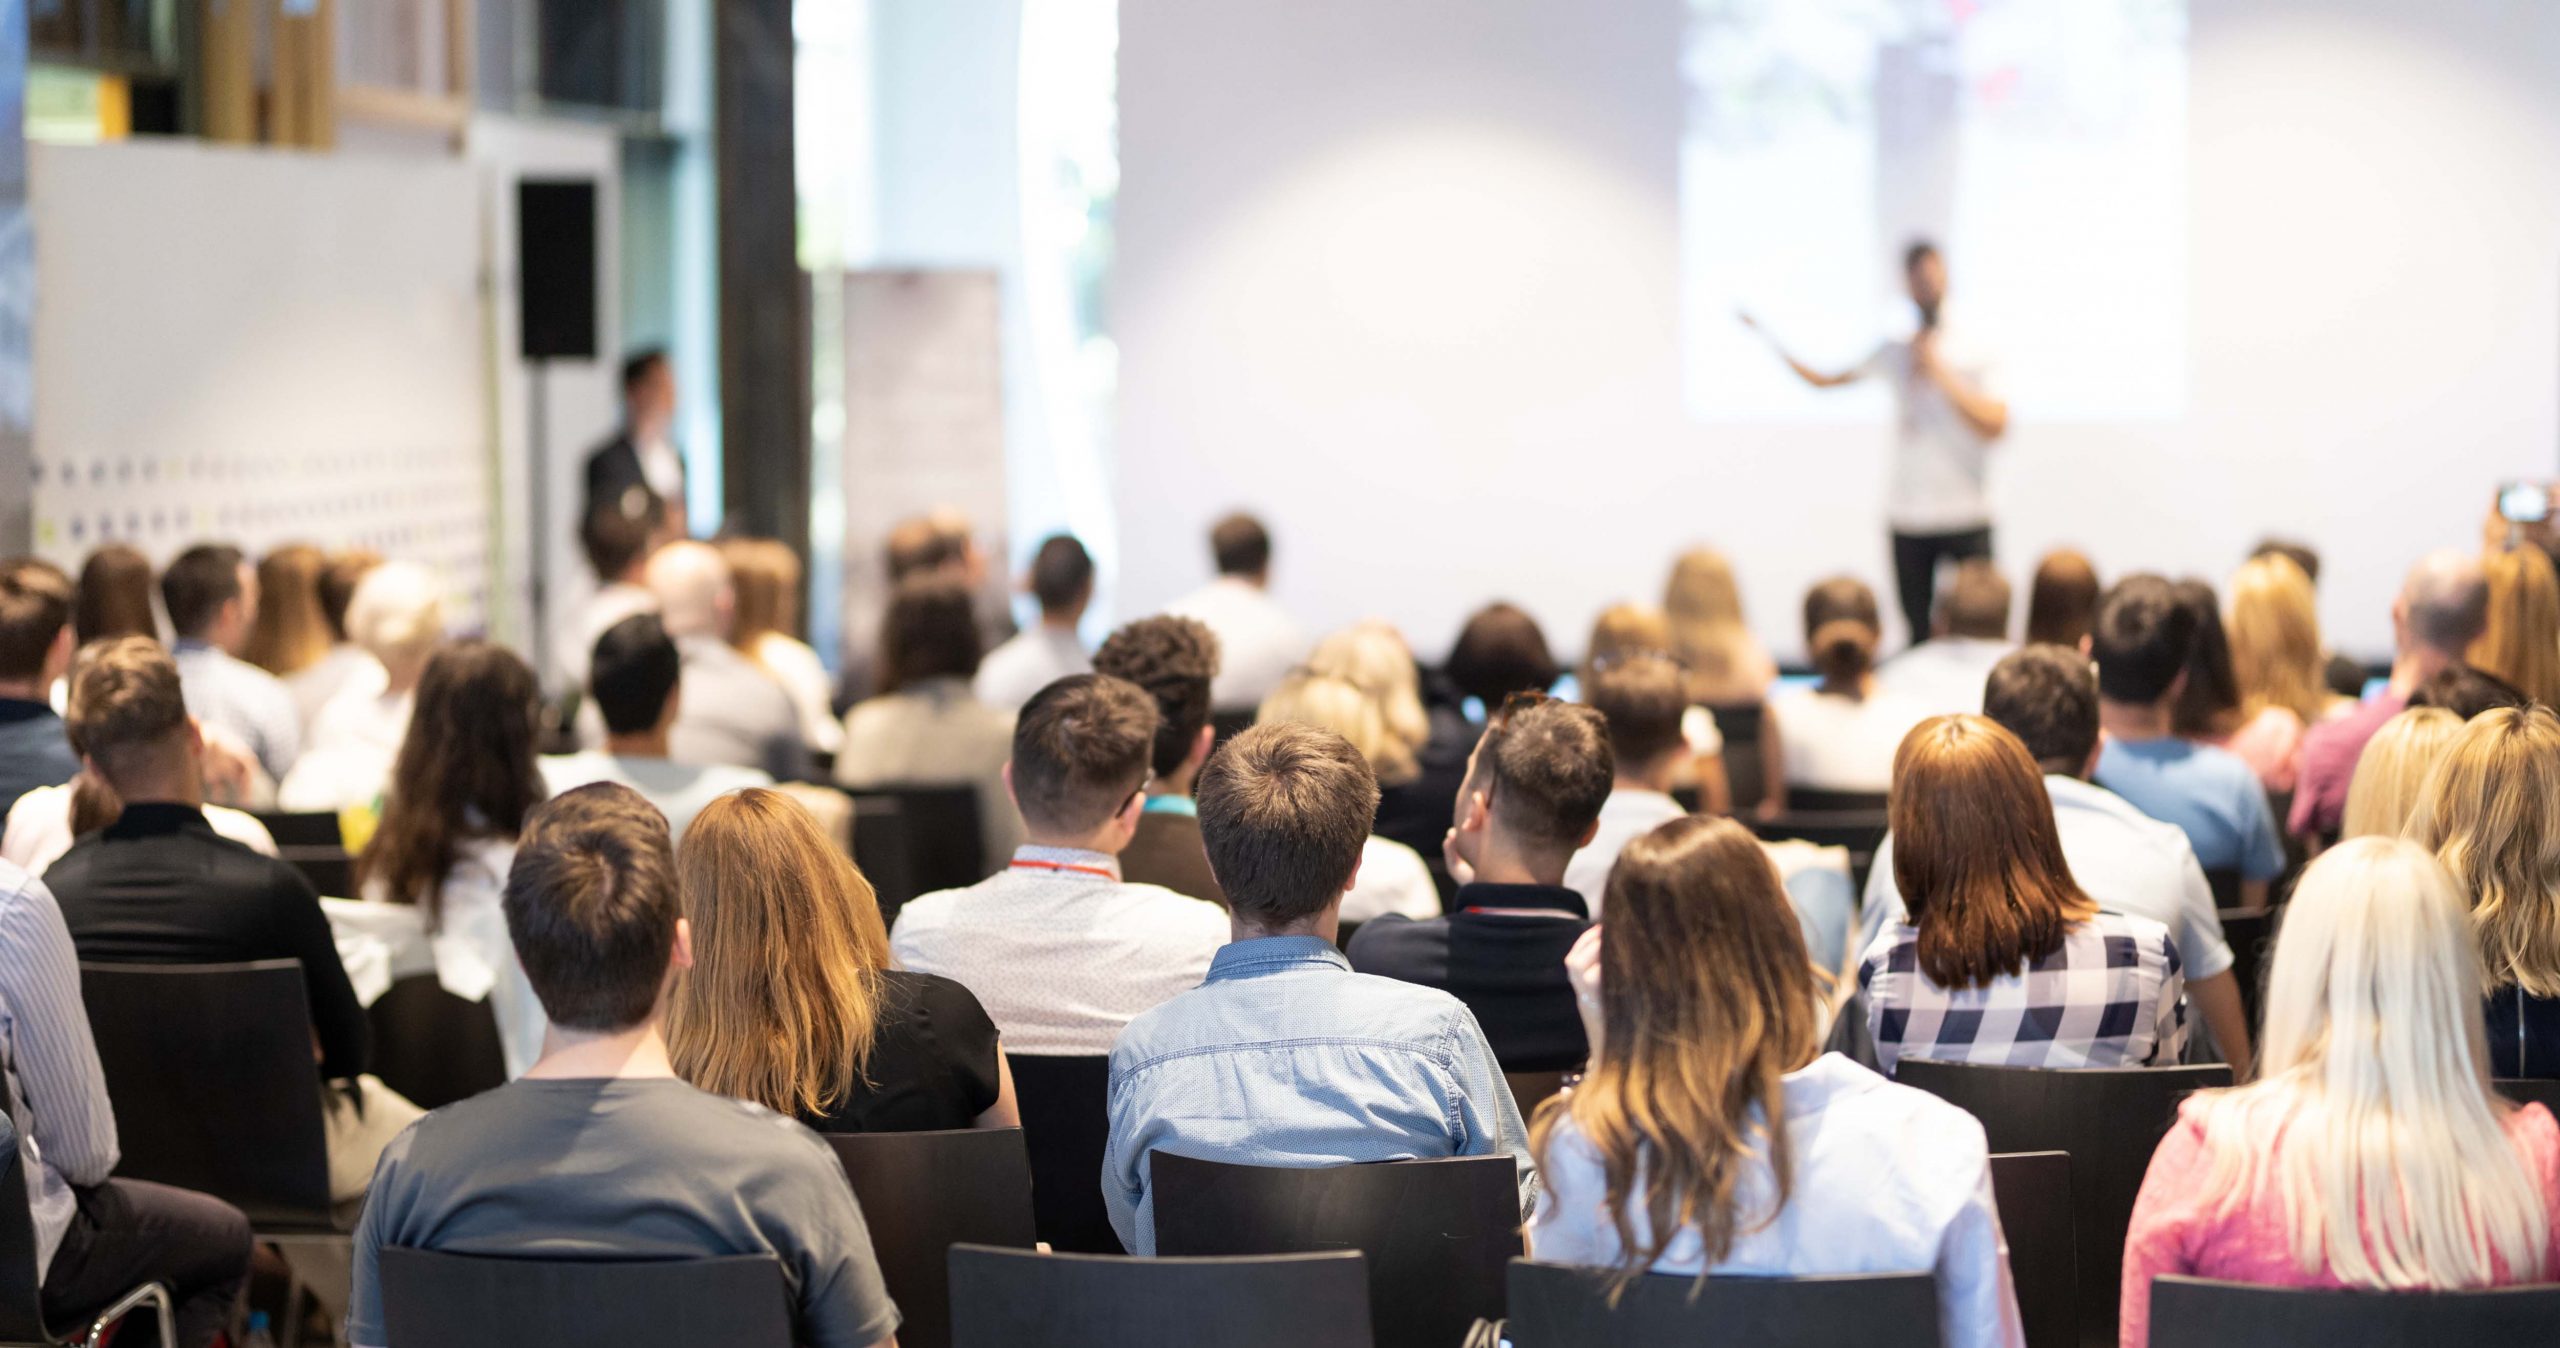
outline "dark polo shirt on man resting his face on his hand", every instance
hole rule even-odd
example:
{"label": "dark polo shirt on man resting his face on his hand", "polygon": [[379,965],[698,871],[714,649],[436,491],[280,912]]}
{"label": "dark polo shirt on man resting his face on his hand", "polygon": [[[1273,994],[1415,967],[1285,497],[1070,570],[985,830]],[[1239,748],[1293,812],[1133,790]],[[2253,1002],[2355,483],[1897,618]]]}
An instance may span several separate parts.
{"label": "dark polo shirt on man resting his face on his hand", "polygon": [[[1582,1013],[1564,977],[1564,952],[1590,929],[1582,895],[1562,885],[1464,885],[1457,913],[1413,921],[1385,916],[1352,936],[1352,969],[1454,992],[1503,1072],[1569,1072],[1590,1056]],[[1554,908],[1521,916],[1482,908]]]}

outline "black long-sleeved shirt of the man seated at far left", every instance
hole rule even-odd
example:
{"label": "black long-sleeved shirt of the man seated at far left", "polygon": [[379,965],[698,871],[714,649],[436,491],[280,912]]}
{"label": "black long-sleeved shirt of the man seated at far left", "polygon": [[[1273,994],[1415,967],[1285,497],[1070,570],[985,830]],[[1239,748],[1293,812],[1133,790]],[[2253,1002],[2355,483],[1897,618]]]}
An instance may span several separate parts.
{"label": "black long-sleeved shirt of the man seated at far left", "polygon": [[72,946],[97,964],[300,959],[320,1074],[364,1072],[364,1008],[302,872],[212,831],[195,806],[138,803],[44,872]]}

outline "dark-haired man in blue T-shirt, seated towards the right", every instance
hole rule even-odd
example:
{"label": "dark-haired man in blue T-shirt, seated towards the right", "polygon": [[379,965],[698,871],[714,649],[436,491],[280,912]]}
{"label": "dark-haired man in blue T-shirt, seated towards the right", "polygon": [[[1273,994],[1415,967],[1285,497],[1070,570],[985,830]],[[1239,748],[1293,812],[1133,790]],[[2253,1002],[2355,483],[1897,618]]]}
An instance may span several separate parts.
{"label": "dark-haired man in blue T-shirt, seated towards the right", "polygon": [[2158,576],[2127,576],[2097,609],[2097,714],[2107,742],[2097,785],[2150,819],[2176,824],[2207,872],[2237,872],[2240,905],[2266,905],[2284,872],[2284,839],[2258,775],[2235,755],[2176,734],[2194,680],[2202,614]]}

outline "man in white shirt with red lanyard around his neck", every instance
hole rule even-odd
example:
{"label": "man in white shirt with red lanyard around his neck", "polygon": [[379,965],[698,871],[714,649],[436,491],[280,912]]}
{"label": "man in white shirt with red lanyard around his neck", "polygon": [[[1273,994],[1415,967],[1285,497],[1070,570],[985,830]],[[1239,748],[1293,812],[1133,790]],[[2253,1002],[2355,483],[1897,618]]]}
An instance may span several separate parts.
{"label": "man in white shirt with red lanyard around his neck", "polygon": [[1155,698],[1119,678],[1042,688],[1001,772],[1029,842],[993,877],[899,908],[899,967],[978,992],[1014,1054],[1108,1054],[1132,1015],[1201,982],[1226,944],[1226,913],[1121,880],[1155,724]]}

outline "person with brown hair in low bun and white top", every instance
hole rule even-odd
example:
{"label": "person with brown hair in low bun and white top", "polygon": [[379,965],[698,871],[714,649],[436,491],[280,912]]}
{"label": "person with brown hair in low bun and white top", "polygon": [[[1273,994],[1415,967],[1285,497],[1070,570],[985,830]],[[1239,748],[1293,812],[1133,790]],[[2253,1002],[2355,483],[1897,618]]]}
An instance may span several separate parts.
{"label": "person with brown hair in low bun and white top", "polygon": [[1876,591],[1836,576],[1805,596],[1805,652],[1823,680],[1769,701],[1784,734],[1792,790],[1874,793],[1894,780],[1894,749],[1928,716],[1876,683]]}

